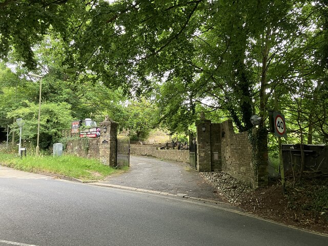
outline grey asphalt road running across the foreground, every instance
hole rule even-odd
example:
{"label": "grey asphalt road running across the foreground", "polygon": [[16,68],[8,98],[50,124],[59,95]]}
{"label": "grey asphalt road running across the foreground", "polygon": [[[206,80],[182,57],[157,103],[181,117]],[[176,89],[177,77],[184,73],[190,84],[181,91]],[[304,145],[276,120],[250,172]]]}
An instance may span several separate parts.
{"label": "grey asphalt road running across the foreground", "polygon": [[328,245],[215,203],[2,175],[0,245]]}

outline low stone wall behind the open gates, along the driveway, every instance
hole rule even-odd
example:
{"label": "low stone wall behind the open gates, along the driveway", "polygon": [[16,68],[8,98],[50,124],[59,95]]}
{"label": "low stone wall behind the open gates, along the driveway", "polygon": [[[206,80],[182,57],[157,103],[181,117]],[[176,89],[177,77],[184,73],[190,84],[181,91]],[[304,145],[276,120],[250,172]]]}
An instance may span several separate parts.
{"label": "low stone wall behind the open gates, along the driveway", "polygon": [[156,145],[131,145],[130,154],[189,163],[189,150],[160,150]]}

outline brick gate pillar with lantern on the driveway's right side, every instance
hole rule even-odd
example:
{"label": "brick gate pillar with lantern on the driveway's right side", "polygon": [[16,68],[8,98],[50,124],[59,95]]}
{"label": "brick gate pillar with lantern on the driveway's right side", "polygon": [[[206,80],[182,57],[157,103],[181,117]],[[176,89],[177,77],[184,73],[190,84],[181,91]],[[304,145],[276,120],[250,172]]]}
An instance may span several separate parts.
{"label": "brick gate pillar with lantern on the driveway's right side", "polygon": [[196,130],[198,171],[211,172],[211,120],[197,120]]}

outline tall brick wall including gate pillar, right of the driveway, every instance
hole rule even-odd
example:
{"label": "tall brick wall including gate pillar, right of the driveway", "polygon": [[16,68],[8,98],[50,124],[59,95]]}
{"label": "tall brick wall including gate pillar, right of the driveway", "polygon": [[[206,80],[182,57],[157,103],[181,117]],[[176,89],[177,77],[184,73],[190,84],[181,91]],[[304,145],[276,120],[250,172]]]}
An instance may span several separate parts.
{"label": "tall brick wall including gate pillar, right of the driveway", "polygon": [[198,171],[227,172],[253,188],[268,185],[267,155],[261,155],[261,165],[254,165],[248,132],[235,133],[232,120],[212,124],[210,120],[201,119],[196,121],[196,128]]}

